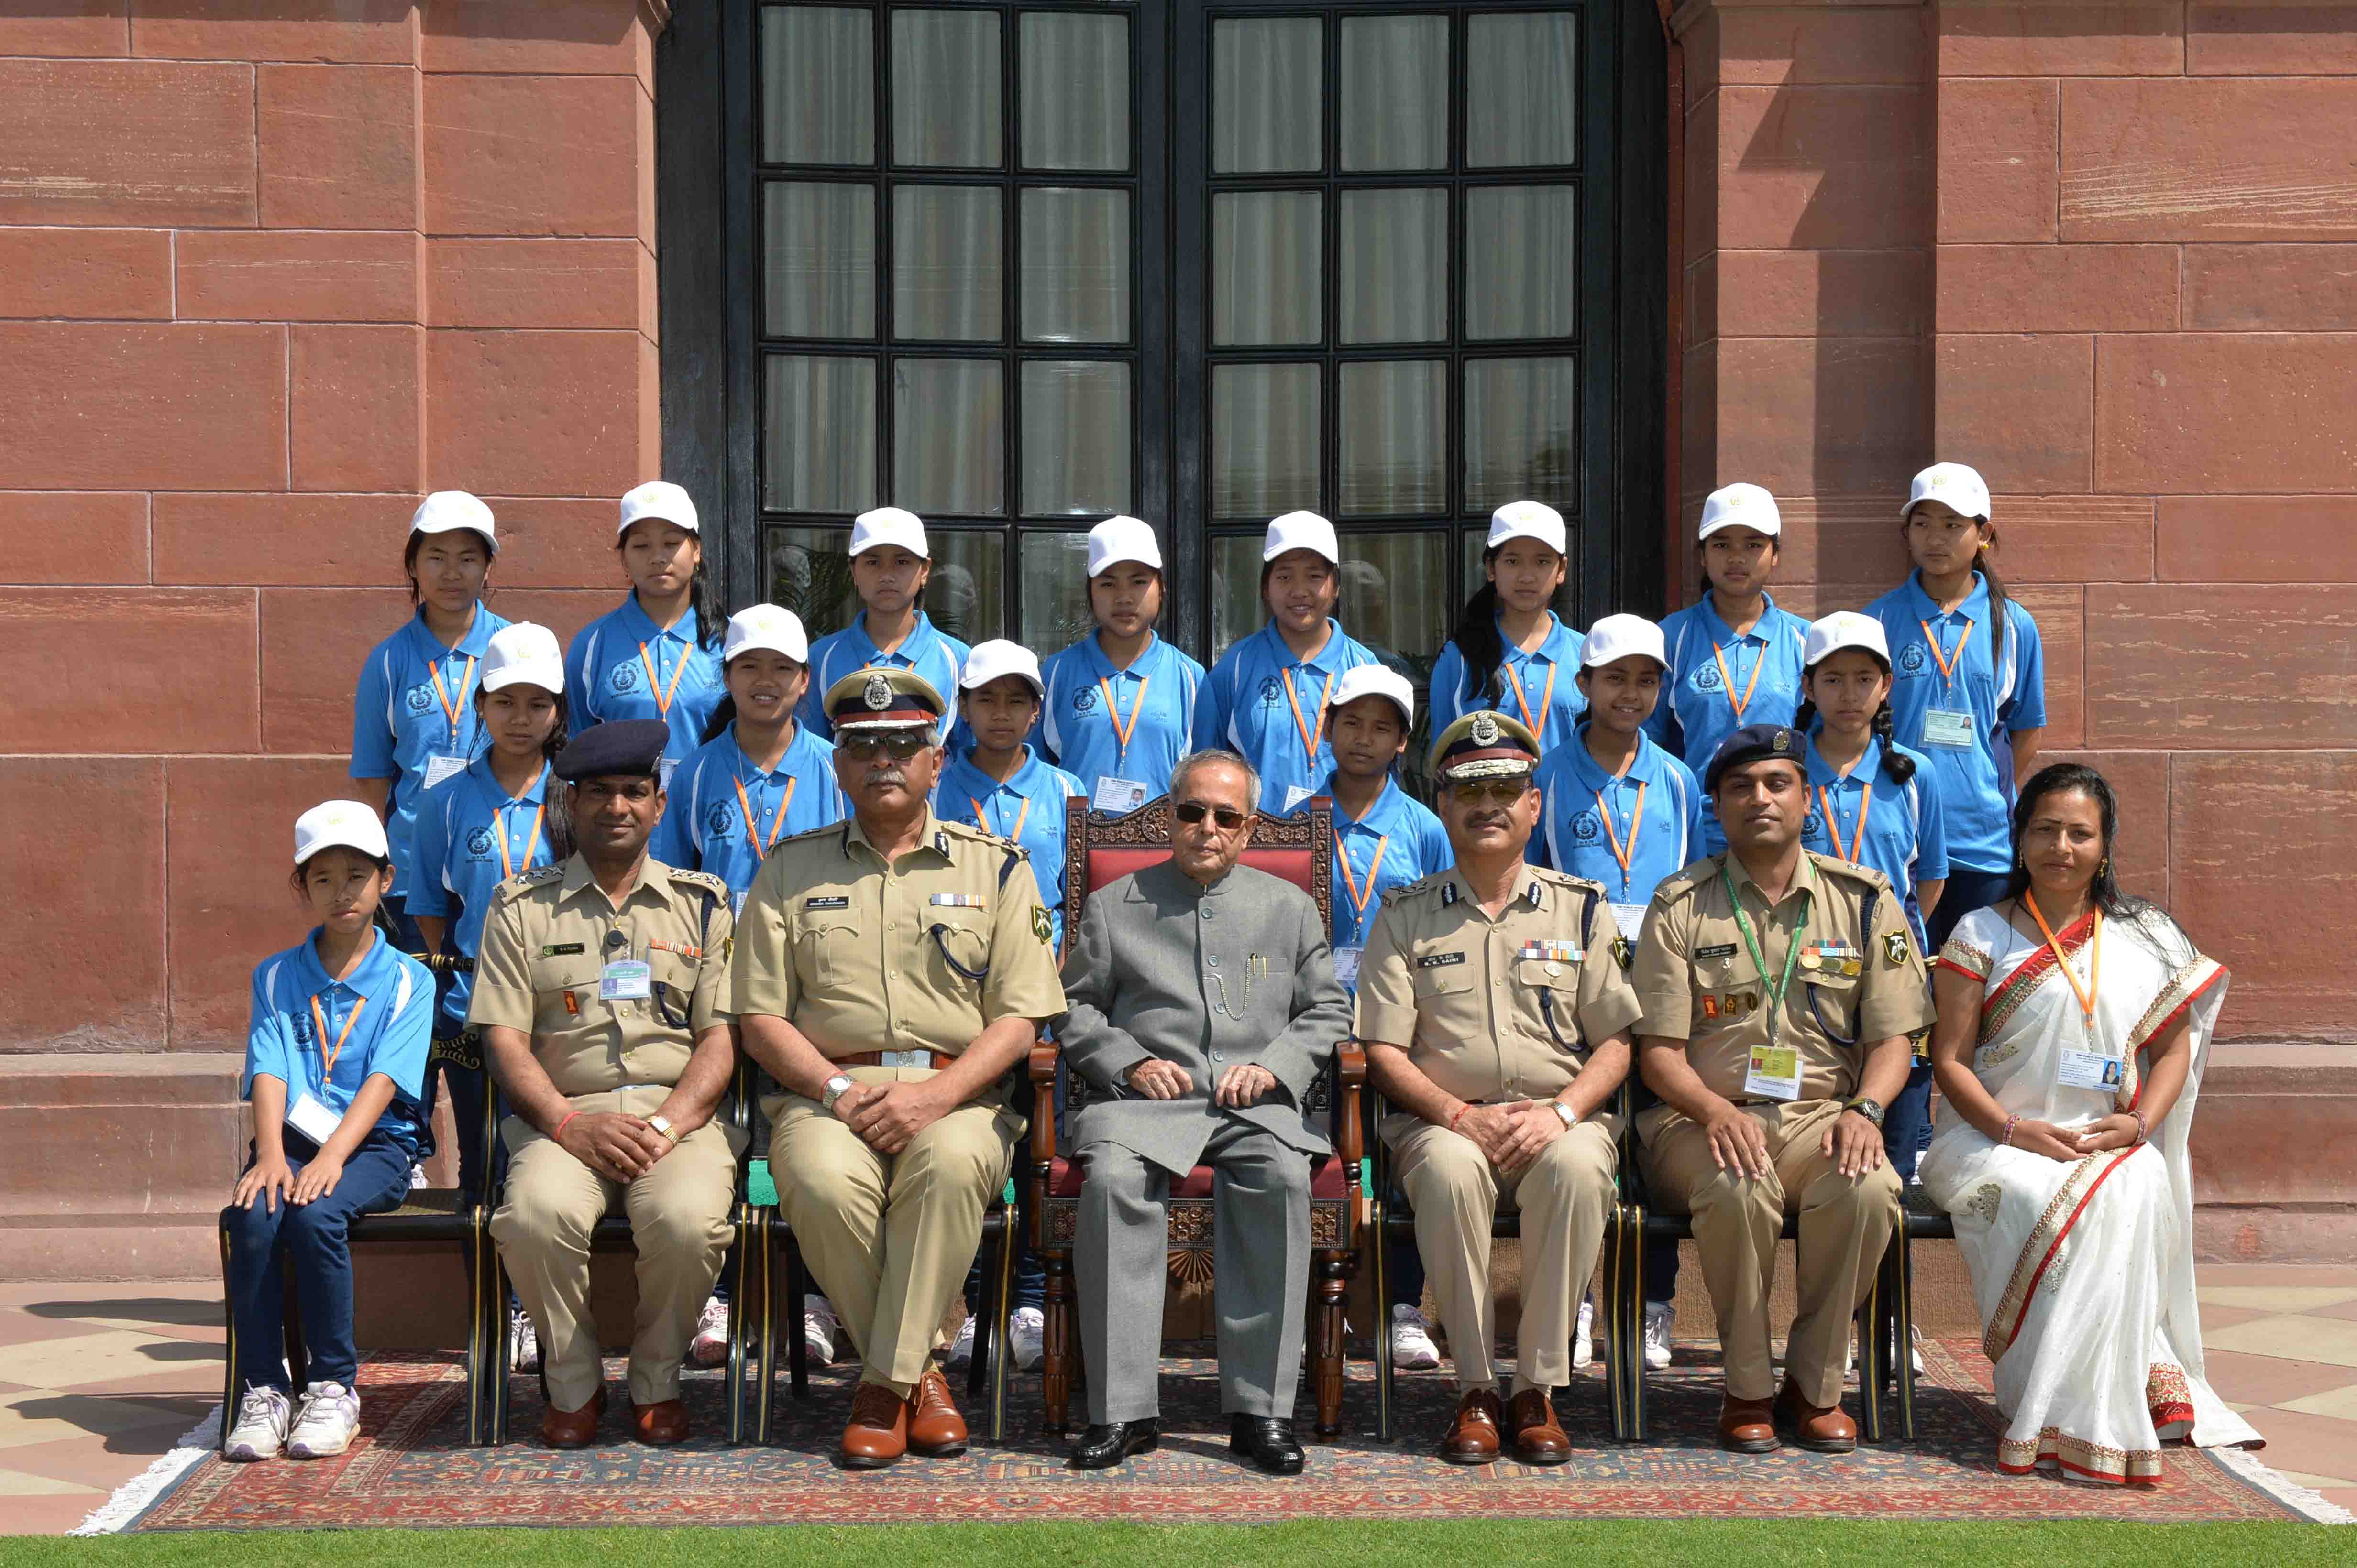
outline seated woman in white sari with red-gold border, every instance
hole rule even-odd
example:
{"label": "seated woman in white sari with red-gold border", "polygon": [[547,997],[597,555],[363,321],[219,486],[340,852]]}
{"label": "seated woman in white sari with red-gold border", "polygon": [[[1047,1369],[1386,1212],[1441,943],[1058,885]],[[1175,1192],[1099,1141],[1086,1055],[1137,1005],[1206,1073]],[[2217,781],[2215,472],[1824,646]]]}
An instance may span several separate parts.
{"label": "seated woman in white sari with red-gold border", "polygon": [[2119,892],[2117,824],[2093,768],[2022,789],[2011,897],[1933,972],[1949,1116],[1923,1187],[1973,1276],[1999,1469],[2152,1486],[2164,1441],[2260,1439],[2211,1391],[2194,1307],[2185,1130],[2227,975]]}

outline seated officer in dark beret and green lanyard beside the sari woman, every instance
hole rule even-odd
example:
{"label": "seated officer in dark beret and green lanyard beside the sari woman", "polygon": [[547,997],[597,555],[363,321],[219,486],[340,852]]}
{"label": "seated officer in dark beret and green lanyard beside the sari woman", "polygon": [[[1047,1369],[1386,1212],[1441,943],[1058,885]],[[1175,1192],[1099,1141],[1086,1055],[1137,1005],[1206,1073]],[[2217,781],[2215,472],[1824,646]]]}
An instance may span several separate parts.
{"label": "seated officer in dark beret and green lanyard beside the sari woman", "polygon": [[[1695,1217],[1728,1361],[1718,1443],[1737,1453],[1772,1450],[1777,1431],[1820,1453],[1857,1446],[1841,1410],[1848,1323],[1900,1217],[1883,1107],[1907,1083],[1907,1036],[1930,1022],[1890,883],[1801,850],[1803,758],[1782,725],[1721,744],[1704,789],[1728,850],[1655,890],[1636,954],[1640,1067],[1662,1097],[1638,1116],[1645,1175],[1655,1205]],[[1777,1394],[1768,1281],[1789,1210],[1801,1300]]]}

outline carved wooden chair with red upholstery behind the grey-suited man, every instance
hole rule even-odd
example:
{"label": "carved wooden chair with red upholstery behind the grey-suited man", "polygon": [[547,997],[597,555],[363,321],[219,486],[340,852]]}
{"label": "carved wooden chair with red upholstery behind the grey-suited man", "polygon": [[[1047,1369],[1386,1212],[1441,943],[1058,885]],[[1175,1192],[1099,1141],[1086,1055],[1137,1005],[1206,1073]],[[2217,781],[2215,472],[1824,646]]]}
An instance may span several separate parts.
{"label": "carved wooden chair with red upholstery behind the grey-suited man", "polygon": [[[1065,800],[1065,899],[1063,928],[1080,930],[1089,895],[1120,876],[1169,857],[1169,796],[1129,815],[1091,812],[1082,798]],[[1261,817],[1244,848],[1244,864],[1282,876],[1318,902],[1320,921],[1334,913],[1334,803],[1315,796],[1299,817]],[[1042,1401],[1047,1429],[1065,1431],[1075,1333],[1072,1238],[1080,1231],[1082,1168],[1056,1154],[1056,1045],[1042,1041],[1030,1057],[1032,1078],[1032,1248],[1047,1274],[1047,1358]],[[1094,1092],[1080,1074],[1065,1074],[1065,1109]],[[1334,1154],[1310,1170],[1310,1363],[1315,1368],[1318,1434],[1341,1431],[1343,1297],[1358,1274],[1360,1250],[1360,1088],[1367,1057],[1353,1041],[1339,1041],[1334,1059],[1310,1090],[1303,1116],[1315,1116],[1332,1137]],[[1211,1276],[1211,1168],[1197,1165],[1169,1196],[1169,1269],[1176,1278]],[[1160,1326],[1155,1328],[1160,1333]]]}

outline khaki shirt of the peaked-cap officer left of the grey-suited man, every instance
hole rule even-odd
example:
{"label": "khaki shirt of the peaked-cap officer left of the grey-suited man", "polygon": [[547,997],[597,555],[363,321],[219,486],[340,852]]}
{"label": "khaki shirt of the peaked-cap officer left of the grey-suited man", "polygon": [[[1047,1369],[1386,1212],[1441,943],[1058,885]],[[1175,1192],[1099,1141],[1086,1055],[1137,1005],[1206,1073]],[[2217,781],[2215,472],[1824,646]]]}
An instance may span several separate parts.
{"label": "khaki shirt of the peaked-cap officer left of the grey-suited man", "polygon": [[738,911],[735,1010],[794,1024],[830,1059],[957,1055],[1002,1017],[1063,1012],[1023,850],[931,810],[893,864],[858,817],[783,841]]}

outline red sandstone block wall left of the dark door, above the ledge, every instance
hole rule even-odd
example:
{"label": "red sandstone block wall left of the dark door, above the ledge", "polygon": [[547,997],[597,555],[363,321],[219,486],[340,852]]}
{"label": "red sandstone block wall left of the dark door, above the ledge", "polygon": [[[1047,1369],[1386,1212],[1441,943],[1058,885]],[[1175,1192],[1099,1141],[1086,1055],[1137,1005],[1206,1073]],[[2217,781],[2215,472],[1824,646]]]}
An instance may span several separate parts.
{"label": "red sandstone block wall left of the dark door, above the ledge", "polygon": [[0,5],[0,1050],[236,1050],[417,494],[660,471],[646,0]]}

